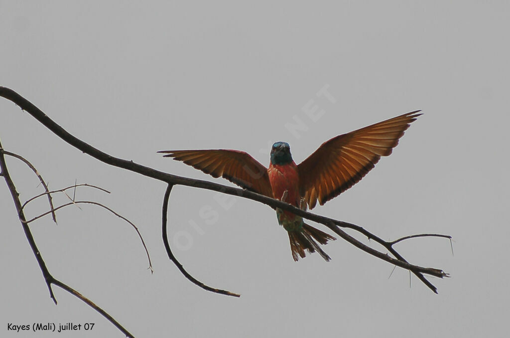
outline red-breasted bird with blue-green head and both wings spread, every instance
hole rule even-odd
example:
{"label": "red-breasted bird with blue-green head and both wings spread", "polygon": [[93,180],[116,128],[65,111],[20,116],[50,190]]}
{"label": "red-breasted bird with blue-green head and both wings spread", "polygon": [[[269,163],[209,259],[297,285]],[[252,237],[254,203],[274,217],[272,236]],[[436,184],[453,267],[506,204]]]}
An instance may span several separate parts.
{"label": "red-breasted bird with blue-green head and both wings spread", "polygon": [[[271,149],[269,168],[245,152],[237,150],[166,150],[164,157],[183,161],[211,176],[227,180],[259,194],[290,203],[301,209],[341,194],[359,182],[381,156],[391,154],[404,131],[421,114],[420,110],[342,134],[322,143],[312,155],[296,165],[289,143],[276,142]],[[336,238],[306,223],[290,211],[276,209],[278,223],[289,234],[292,257],[304,258],[305,249],[329,256],[319,247]],[[317,242],[316,242],[317,241]]]}

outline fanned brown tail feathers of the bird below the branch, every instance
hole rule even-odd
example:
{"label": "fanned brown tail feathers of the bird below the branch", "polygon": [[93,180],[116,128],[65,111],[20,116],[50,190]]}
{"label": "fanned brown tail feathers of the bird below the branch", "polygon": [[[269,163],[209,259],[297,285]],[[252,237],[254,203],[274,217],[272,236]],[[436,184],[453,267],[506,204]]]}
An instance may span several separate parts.
{"label": "fanned brown tail feathers of the bird below the branch", "polygon": [[[318,252],[324,260],[329,261],[331,258],[319,247],[315,242],[320,244],[326,244],[328,240],[335,240],[336,238],[316,229],[308,224],[303,224],[301,231],[289,231],[290,248],[292,251],[292,257],[295,261],[299,257],[304,258],[306,253],[304,249],[307,249],[309,253]],[[315,240],[314,240],[315,238]]]}

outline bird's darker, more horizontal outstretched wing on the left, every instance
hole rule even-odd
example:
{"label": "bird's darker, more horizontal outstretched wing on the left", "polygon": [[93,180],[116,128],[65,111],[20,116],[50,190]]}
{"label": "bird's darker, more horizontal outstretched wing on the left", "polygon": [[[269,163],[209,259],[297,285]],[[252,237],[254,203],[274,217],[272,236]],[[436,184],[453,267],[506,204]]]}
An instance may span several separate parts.
{"label": "bird's darker, more horizontal outstretched wing on the left", "polygon": [[164,157],[183,161],[214,178],[227,180],[259,194],[273,197],[267,168],[245,152],[237,150],[164,150]]}

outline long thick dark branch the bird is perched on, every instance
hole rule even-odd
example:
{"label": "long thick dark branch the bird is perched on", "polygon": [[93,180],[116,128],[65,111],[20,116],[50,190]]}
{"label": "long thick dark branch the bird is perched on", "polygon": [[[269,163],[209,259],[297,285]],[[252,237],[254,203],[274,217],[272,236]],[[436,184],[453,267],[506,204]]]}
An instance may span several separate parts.
{"label": "long thick dark branch the bird is perched on", "polygon": [[[297,207],[294,207],[293,205],[287,204],[285,202],[275,200],[260,194],[256,194],[254,192],[243,190],[239,188],[234,188],[230,186],[225,186],[209,181],[203,181],[203,180],[195,180],[190,179],[186,177],[176,176],[172,174],[167,174],[155,169],[152,169],[150,167],[135,163],[130,160],[124,160],[120,158],[113,157],[107,153],[101,152],[100,150],[90,146],[90,144],[78,139],[77,137],[74,137],[70,133],[68,133],[66,130],[64,130],[62,127],[60,127],[58,124],[56,124],[52,119],[50,119],[46,114],[44,114],[39,108],[34,106],[31,102],[24,99],[21,95],[13,91],[12,89],[6,88],[6,87],[0,87],[0,96],[3,96],[4,98],[14,102],[17,104],[21,109],[27,111],[29,114],[31,114],[34,118],[36,118],[41,124],[43,124],[46,128],[54,132],[57,136],[59,136],[62,140],[66,141],[67,143],[71,144],[74,148],[79,149],[80,151],[113,166],[124,168],[126,170],[139,173],[141,175],[151,177],[160,181],[164,181],[168,184],[175,185],[175,184],[181,184],[186,185],[190,187],[196,187],[196,188],[202,188],[202,189],[209,189],[213,191],[219,191],[223,194],[227,195],[233,195],[233,196],[239,196],[243,198],[247,198],[253,201],[258,201],[261,203],[264,203],[266,205],[269,205],[273,208],[281,208],[284,210],[291,211],[295,213],[296,215],[302,216],[305,219],[320,223],[325,225],[326,227],[333,230],[335,233],[337,233],[339,236],[344,238],[347,242],[354,245],[355,247],[377,257],[382,260],[385,260],[391,264],[397,265],[398,267],[401,267],[403,269],[407,269],[412,271],[423,283],[425,283],[433,292],[437,293],[437,289],[435,286],[433,286],[430,282],[428,282],[423,274],[428,274],[431,276],[436,276],[439,278],[448,277],[448,274],[446,274],[441,269],[434,269],[434,268],[424,268],[420,267],[418,265],[413,265],[407,262],[395,249],[392,247],[391,242],[387,242],[385,240],[382,240],[378,236],[370,233],[369,231],[365,230],[364,228],[347,223],[342,221],[337,221],[333,219],[326,218],[324,216],[320,216],[311,212],[307,212],[304,210],[301,210]],[[363,243],[359,242],[359,240],[356,240],[352,236],[348,235],[346,232],[344,232],[340,227],[344,228],[350,228],[353,230],[356,230],[364,235],[366,235],[369,239],[375,240],[375,242],[379,243],[383,247],[385,247],[395,258],[390,257],[386,253],[382,253],[380,251],[377,251],[371,247],[368,247],[364,245]]]}

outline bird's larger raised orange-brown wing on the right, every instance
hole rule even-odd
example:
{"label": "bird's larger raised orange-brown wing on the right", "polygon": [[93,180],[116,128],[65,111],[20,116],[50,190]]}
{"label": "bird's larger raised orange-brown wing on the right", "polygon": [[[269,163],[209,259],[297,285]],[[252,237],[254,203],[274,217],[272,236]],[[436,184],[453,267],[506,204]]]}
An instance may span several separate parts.
{"label": "bird's larger raised orange-brown wing on the right", "polygon": [[299,187],[310,209],[323,205],[359,182],[379,161],[391,154],[398,139],[420,110],[403,114],[322,143],[301,162]]}

